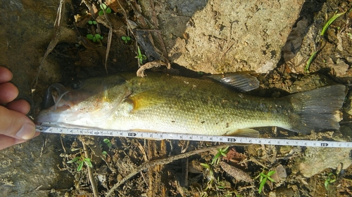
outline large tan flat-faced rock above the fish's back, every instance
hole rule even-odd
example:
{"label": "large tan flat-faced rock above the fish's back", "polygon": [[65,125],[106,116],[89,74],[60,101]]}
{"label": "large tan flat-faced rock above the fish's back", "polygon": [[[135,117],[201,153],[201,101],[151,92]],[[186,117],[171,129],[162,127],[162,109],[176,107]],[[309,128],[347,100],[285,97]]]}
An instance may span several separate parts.
{"label": "large tan flat-faced rock above the fish's back", "polygon": [[[267,73],[276,67],[303,2],[225,0],[215,4],[210,0],[187,23],[187,18],[175,16],[178,25],[187,27],[188,39],[179,36],[169,56],[194,71]],[[168,31],[168,26],[164,29]]]}

